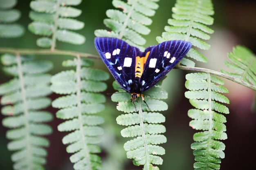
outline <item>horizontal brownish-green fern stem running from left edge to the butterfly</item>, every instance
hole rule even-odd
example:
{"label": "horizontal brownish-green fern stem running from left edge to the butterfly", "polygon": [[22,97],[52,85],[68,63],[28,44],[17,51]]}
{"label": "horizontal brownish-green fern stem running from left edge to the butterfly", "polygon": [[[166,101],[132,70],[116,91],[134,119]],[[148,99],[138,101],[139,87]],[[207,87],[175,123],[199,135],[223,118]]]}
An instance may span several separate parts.
{"label": "horizontal brownish-green fern stem running from left edge to the butterfly", "polygon": [[70,55],[77,57],[79,55],[80,57],[86,57],[86,58],[92,58],[92,59],[101,59],[99,55],[92,55],[88,53],[79,53],[76,51],[65,51],[65,50],[38,50],[38,49],[13,49],[13,48],[0,48],[0,53],[19,53],[23,55]]}

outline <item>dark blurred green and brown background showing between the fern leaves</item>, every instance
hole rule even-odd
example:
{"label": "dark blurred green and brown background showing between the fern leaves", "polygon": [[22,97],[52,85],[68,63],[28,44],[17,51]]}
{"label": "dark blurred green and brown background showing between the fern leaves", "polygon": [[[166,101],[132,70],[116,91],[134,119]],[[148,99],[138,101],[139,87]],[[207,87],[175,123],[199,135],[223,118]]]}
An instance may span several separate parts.
{"label": "dark blurred green and brown background showing between the fern leaves", "polygon": [[[30,1],[19,1],[16,9],[22,12],[22,18],[18,23],[26,28],[25,35],[17,39],[0,39],[0,47],[38,49],[36,39],[38,36],[27,30],[27,25],[31,22],[28,18],[30,11]],[[153,24],[150,26],[150,35],[145,36],[146,46],[155,45],[156,36],[164,31],[168,18],[171,18],[171,8],[175,0],[160,0],[159,9],[152,18]],[[197,66],[220,71],[226,68],[224,61],[227,60],[227,52],[232,50],[232,46],[242,44],[256,53],[256,1],[255,0],[214,0],[215,22],[212,29],[215,33],[211,35],[211,50],[202,51],[209,59],[207,64],[198,64]],[[94,30],[105,28],[103,19],[106,18],[106,10],[114,9],[112,0],[83,0],[77,7],[83,11],[82,15],[76,18],[85,22],[84,29],[78,31],[86,37],[83,45],[72,45],[58,42],[56,48],[71,51],[80,51],[85,53],[97,54],[94,48]],[[66,68],[61,66],[64,60],[71,59],[70,56],[58,55],[39,55],[38,60],[50,60],[54,63],[54,69],[50,72],[52,75],[63,71]],[[2,67],[2,66],[0,66]],[[95,60],[95,67],[105,71],[106,66],[100,60]],[[193,142],[193,133],[196,131],[189,127],[190,118],[187,116],[187,110],[192,108],[188,99],[184,97],[186,91],[184,87],[186,71],[172,70],[168,73],[168,78],[164,81],[164,88],[168,91],[168,110],[163,112],[166,117],[166,137],[167,143],[162,145],[166,149],[166,155],[162,158],[164,163],[159,166],[162,170],[189,170],[193,169],[194,157],[190,145]],[[0,72],[0,84],[11,79]],[[114,78],[108,80],[108,90],[105,92],[113,93],[112,82]],[[255,114],[255,91],[245,88],[234,82],[226,81],[225,86],[229,89],[227,97],[230,99],[230,114],[227,115],[227,134],[226,158],[222,159],[222,170],[247,170],[256,169],[254,160],[256,156],[256,114]],[[106,119],[104,126],[105,134],[101,147],[103,152],[103,170],[135,170],[141,167],[132,165],[132,160],[126,159],[126,153],[123,144],[128,140],[121,137],[120,130],[123,128],[116,124],[116,117],[121,112],[115,109],[116,103],[110,101],[110,95],[106,95],[108,102],[106,110],[101,115]],[[51,95],[55,99],[57,95]],[[53,114],[56,109],[48,108]],[[0,119],[2,120],[2,115]],[[50,123],[54,132],[48,136],[51,146],[48,148],[47,170],[72,170],[72,164],[69,161],[70,155],[66,153],[65,146],[61,139],[66,134],[57,131],[61,120],[54,118]],[[6,128],[0,127],[0,170],[12,170],[10,159],[11,152],[7,150],[8,140],[5,138]]]}

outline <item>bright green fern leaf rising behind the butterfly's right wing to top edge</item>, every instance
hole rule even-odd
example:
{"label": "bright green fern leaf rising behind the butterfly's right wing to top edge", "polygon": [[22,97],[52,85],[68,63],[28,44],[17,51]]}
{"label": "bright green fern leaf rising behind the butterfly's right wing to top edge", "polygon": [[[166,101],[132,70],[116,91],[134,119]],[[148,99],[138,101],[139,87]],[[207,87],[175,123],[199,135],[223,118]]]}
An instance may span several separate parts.
{"label": "bright green fern leaf rising behind the butterfly's right wing to top edge", "polygon": [[[173,18],[168,20],[170,26],[164,27],[166,32],[162,33],[162,37],[157,37],[157,41],[160,43],[169,40],[184,40],[191,42],[194,47],[209,50],[210,45],[204,40],[209,40],[209,34],[213,33],[213,30],[208,27],[213,24],[211,15],[214,11],[211,0],[177,0],[172,11]],[[195,48],[191,48],[186,56],[200,62],[208,61]],[[183,58],[181,64],[195,66],[195,63],[187,58]]]}

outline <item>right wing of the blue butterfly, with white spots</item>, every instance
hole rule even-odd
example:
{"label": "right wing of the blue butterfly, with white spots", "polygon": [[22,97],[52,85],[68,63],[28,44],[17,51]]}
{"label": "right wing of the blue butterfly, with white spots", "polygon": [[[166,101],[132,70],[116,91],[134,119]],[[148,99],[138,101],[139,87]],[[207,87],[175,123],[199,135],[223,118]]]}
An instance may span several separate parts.
{"label": "right wing of the blue butterfly, with white spots", "polygon": [[141,91],[147,91],[166,75],[191,48],[190,42],[173,40],[166,41],[157,46],[150,46],[144,71],[141,75]]}

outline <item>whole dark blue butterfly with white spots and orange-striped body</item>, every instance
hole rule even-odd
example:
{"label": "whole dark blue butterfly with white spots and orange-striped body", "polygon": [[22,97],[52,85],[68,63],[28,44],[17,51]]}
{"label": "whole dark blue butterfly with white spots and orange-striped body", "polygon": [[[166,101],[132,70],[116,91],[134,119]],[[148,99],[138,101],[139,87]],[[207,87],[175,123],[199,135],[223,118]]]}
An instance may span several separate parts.
{"label": "whole dark blue butterfly with white spots and orange-striped body", "polygon": [[190,42],[173,40],[149,46],[145,52],[117,38],[95,38],[103,62],[117,82],[132,95],[132,103],[164,77],[191,48]]}

